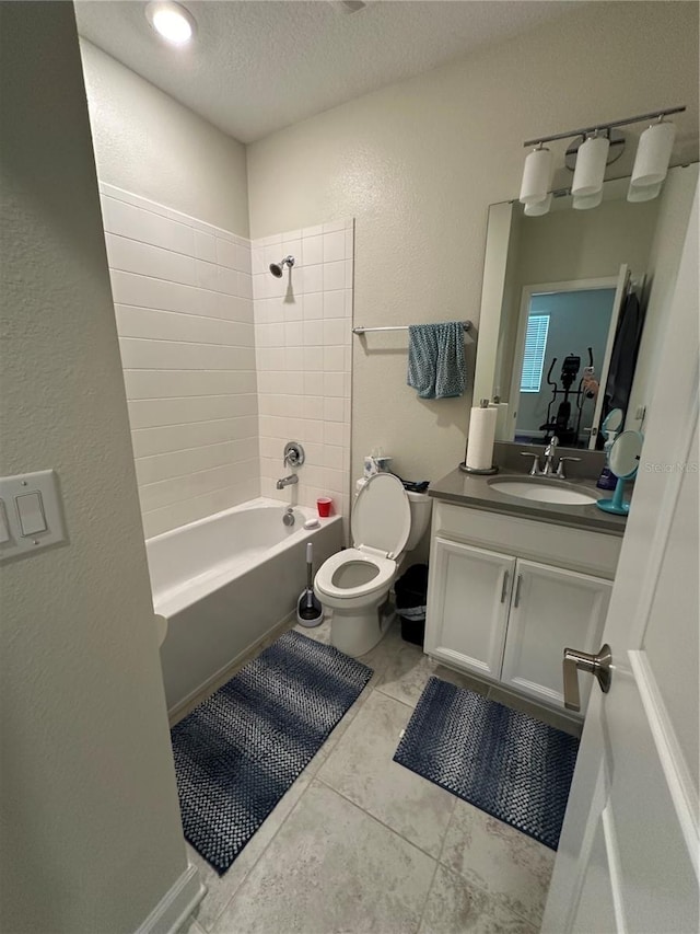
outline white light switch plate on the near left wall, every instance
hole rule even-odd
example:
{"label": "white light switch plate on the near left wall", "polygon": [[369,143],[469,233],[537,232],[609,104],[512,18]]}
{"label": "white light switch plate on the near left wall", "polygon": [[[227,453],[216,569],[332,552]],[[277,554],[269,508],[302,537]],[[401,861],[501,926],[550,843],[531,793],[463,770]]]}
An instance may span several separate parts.
{"label": "white light switch plate on the near left wall", "polygon": [[[39,497],[22,499],[28,494],[39,494]],[[16,476],[0,477],[0,499],[4,505],[4,517],[7,520],[8,540],[0,542],[0,561],[5,561],[16,555],[34,554],[47,545],[55,545],[66,540],[66,527],[63,524],[63,510],[58,488],[58,476],[52,470],[39,470],[34,473],[21,473]],[[40,522],[36,521],[36,515],[28,517],[27,504],[39,504],[39,511],[46,529],[43,531],[26,533],[26,529],[38,528]],[[21,521],[21,507],[23,509],[24,529]],[[27,518],[33,524],[27,524]]]}

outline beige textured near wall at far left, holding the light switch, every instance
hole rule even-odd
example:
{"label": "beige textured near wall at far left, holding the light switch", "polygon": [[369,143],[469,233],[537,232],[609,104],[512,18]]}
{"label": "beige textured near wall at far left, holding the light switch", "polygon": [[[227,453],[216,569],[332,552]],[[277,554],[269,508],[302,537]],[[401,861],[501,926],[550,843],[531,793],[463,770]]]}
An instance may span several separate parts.
{"label": "beige textured near wall at far left, holding the light switch", "polygon": [[0,472],[69,541],[1,569],[0,927],[135,931],[186,868],[71,3],[2,3]]}

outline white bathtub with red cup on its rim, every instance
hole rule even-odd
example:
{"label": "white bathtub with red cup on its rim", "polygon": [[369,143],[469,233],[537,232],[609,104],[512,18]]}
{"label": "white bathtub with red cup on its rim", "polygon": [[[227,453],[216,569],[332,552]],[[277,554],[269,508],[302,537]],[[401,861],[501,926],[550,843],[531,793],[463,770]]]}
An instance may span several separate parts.
{"label": "white bathtub with red cup on its rim", "polygon": [[153,607],[167,620],[161,667],[171,719],[223,683],[226,673],[296,610],[314,570],[342,543],[339,516],[305,530],[315,509],[258,498],[148,539]]}

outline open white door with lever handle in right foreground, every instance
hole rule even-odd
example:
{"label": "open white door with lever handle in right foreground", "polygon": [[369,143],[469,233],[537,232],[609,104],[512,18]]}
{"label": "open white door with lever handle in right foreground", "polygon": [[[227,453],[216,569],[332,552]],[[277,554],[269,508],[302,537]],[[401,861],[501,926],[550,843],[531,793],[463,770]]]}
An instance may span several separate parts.
{"label": "open white door with lever handle in right foreground", "polygon": [[699,930],[697,193],[668,316],[604,631],[610,690],[591,694],[542,921],[552,934]]}

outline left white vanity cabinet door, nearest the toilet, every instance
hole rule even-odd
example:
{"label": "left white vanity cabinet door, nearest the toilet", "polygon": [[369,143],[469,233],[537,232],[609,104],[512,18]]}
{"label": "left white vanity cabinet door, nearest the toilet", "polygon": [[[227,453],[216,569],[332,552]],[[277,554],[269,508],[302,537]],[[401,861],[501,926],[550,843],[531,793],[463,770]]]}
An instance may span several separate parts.
{"label": "left white vanity cabinet door, nearest the toilet", "polygon": [[513,557],[435,537],[425,652],[498,679],[514,570]]}

